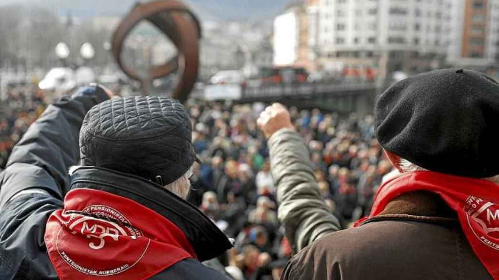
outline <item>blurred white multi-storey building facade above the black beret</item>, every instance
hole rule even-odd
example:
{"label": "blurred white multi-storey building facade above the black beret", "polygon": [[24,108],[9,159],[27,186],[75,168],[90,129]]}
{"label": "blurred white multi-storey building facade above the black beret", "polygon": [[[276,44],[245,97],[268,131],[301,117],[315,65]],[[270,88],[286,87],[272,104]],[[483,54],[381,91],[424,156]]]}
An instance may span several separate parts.
{"label": "blurred white multi-storey building facade above the black beret", "polygon": [[319,0],[323,67],[372,64],[384,74],[439,67],[450,44],[452,2]]}

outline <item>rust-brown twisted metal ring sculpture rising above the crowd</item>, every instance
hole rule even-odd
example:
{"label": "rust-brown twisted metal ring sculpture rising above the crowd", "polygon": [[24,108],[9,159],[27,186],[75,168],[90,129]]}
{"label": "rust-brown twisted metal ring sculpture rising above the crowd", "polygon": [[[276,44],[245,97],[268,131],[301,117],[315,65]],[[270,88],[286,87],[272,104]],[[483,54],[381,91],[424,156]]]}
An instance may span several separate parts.
{"label": "rust-brown twisted metal ring sculpture rising above the crowd", "polygon": [[[178,49],[178,55],[160,66],[149,70],[148,77],[140,77],[121,59],[123,42],[130,31],[143,19],[150,21],[168,36]],[[165,77],[180,70],[180,80],[172,93],[172,98],[184,102],[196,83],[199,70],[199,39],[201,25],[196,15],[182,2],[177,0],[157,0],[137,3],[123,18],[113,33],[112,53],[125,74],[142,85],[147,94],[148,83],[153,79]]]}

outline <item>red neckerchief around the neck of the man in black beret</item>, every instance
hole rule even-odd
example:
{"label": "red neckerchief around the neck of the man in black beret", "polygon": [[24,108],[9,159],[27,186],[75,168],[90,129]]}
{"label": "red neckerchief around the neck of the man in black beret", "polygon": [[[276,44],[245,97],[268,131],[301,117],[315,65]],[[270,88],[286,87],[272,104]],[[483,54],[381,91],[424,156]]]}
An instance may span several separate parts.
{"label": "red neckerchief around the neck of the man in black beret", "polygon": [[379,215],[395,197],[419,190],[439,194],[456,211],[473,251],[489,274],[499,279],[499,185],[431,171],[403,173],[379,187],[369,217]]}

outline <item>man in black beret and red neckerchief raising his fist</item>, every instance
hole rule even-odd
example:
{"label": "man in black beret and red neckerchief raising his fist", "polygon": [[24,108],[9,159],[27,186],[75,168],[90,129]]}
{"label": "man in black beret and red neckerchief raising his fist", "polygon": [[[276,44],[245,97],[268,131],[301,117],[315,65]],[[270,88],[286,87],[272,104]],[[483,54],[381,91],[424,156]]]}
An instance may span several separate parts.
{"label": "man in black beret and red neckerchief raising his fist", "polygon": [[274,104],[261,114],[279,219],[297,253],[282,279],[499,279],[499,84],[463,69],[428,72],[390,87],[374,113],[400,174],[343,231],[289,113]]}

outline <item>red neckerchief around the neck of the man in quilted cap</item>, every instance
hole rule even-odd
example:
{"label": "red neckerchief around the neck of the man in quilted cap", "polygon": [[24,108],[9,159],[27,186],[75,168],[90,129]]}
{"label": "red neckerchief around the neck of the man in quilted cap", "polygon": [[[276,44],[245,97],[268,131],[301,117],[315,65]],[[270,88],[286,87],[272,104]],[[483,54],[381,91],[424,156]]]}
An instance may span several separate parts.
{"label": "red neckerchief around the neck of the man in quilted cap", "polygon": [[50,261],[61,280],[148,279],[196,258],[184,233],[141,204],[108,192],[75,189],[45,230]]}

